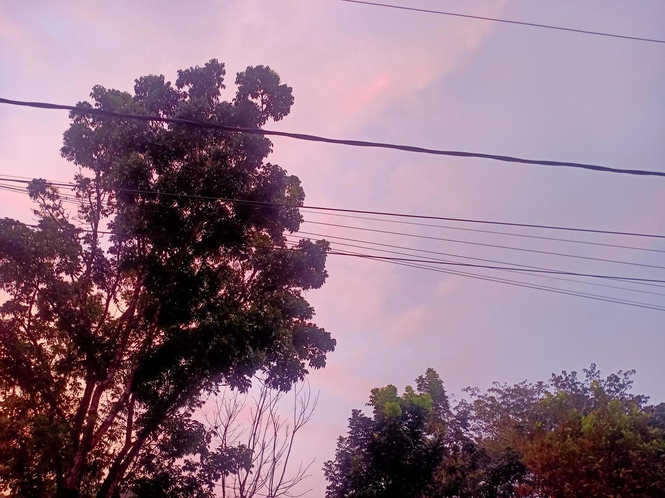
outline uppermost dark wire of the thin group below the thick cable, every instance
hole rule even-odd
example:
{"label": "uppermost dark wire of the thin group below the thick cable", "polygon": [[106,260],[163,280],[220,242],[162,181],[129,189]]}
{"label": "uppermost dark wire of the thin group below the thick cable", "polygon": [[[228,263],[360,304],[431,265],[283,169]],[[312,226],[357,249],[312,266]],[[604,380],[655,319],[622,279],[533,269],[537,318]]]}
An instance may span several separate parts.
{"label": "uppermost dark wire of the thin group below the thick cable", "polygon": [[[9,175],[7,175],[9,176]],[[18,180],[18,179],[11,179],[11,178],[0,178],[0,181],[13,181],[13,182],[19,182],[19,183],[32,183],[31,181],[27,180]],[[59,182],[54,182],[54,181],[49,181],[47,182],[49,185],[54,185],[56,187],[68,187],[72,188],[74,187],[74,184],[72,183],[59,183]],[[297,209],[317,209],[317,210],[322,210],[322,211],[337,211],[337,212],[356,212],[359,214],[378,214],[382,216],[396,216],[398,218],[420,218],[420,219],[427,219],[427,220],[445,220],[445,221],[456,221],[456,222],[466,222],[466,223],[479,223],[479,224],[491,224],[491,225],[503,225],[503,226],[519,226],[522,228],[543,228],[543,229],[549,229],[549,230],[567,230],[571,232],[589,232],[589,233],[597,233],[597,234],[610,234],[610,235],[627,235],[627,236],[636,236],[636,237],[648,237],[648,238],[665,238],[665,235],[660,235],[660,234],[643,234],[643,233],[636,233],[636,232],[618,232],[618,231],[613,231],[613,230],[595,230],[592,228],[571,228],[571,227],[566,227],[566,226],[552,226],[552,225],[541,225],[541,224],[528,224],[528,223],[515,223],[515,222],[504,222],[504,221],[491,221],[491,220],[478,220],[478,219],[471,219],[471,218],[450,218],[446,216],[428,216],[426,214],[405,214],[405,213],[400,213],[400,212],[384,212],[384,211],[368,211],[368,210],[360,210],[360,209],[347,209],[347,208],[332,208],[332,207],[321,207],[321,206],[308,206],[308,205],[293,205],[293,204],[285,204],[285,203],[269,203],[266,201],[247,201],[247,200],[242,200],[242,199],[229,199],[226,197],[209,197],[205,195],[191,195],[191,194],[176,194],[176,193],[171,193],[171,192],[151,192],[151,191],[146,191],[146,190],[136,190],[136,189],[122,189],[122,188],[116,188],[116,187],[103,187],[104,189],[107,190],[112,190],[112,191],[118,191],[118,192],[130,192],[130,193],[140,193],[140,194],[148,194],[148,195],[167,195],[167,196],[173,196],[173,197],[185,197],[188,199],[205,199],[209,201],[223,201],[225,203],[240,203],[240,204],[248,204],[248,205],[257,205],[257,206],[266,206],[266,207],[289,207],[289,208],[297,208]]]}

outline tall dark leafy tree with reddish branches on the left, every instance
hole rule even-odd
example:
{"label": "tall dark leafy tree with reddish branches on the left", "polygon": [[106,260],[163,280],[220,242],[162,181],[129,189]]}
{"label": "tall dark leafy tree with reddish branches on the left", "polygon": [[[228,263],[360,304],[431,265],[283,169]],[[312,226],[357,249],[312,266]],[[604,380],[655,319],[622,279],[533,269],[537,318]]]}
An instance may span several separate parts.
{"label": "tall dark leafy tree with reddish branches on the left", "polygon": [[[213,59],[175,85],[95,86],[78,107],[249,128],[289,114],[291,88],[270,68],[238,73],[228,102],[224,76]],[[0,484],[17,496],[140,495],[156,481],[161,495],[209,494],[247,455],[207,448],[192,419],[201,396],[245,390],[257,371],[288,390],[334,348],[303,298],[327,278],[327,244],[287,250],[305,195],[265,162],[265,137],[70,118],[72,191],[35,180],[37,226],[0,220]]]}

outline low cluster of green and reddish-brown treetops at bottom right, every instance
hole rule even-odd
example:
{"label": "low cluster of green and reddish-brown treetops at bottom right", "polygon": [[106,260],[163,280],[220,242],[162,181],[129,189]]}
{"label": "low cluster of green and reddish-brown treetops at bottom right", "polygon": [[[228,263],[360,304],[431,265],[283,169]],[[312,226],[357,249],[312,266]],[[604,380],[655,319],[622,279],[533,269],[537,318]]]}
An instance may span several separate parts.
{"label": "low cluster of green and reddish-brown treetops at bottom right", "polygon": [[452,408],[432,369],[418,394],[374,389],[325,463],[327,498],[665,495],[665,404],[631,394],[634,371],[584,373],[467,388]]}

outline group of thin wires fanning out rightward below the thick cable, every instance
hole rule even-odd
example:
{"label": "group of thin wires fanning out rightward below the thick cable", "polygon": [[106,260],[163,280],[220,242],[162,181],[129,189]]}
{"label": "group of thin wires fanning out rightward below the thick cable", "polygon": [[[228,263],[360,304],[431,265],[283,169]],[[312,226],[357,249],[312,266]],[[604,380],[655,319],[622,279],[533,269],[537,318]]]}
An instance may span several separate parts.
{"label": "group of thin wires fanning out rightward below the thick cable", "polygon": [[[25,185],[30,183],[28,179],[23,179],[23,177],[15,177],[11,175],[5,175],[0,177],[0,189],[4,191],[10,191],[14,193],[27,194]],[[57,182],[57,181],[48,181],[48,185],[60,189],[60,197],[63,202],[78,204],[80,199],[78,199],[74,193],[74,185],[72,183],[66,182]],[[269,208],[283,208],[283,207],[293,207],[291,205],[284,205],[278,203],[259,203],[255,201],[242,201],[239,199],[225,199],[217,197],[203,197],[196,195],[183,195],[177,193],[168,193],[168,192],[155,192],[155,191],[136,191],[133,189],[113,189],[109,188],[108,190],[114,191],[128,191],[132,193],[140,193],[146,196],[170,196],[170,197],[186,197],[188,199],[201,199],[201,201],[219,201],[220,203],[243,203],[245,205],[257,205],[261,207]],[[642,276],[641,274],[636,274],[638,270],[651,269],[656,270],[665,270],[665,266],[659,266],[656,264],[648,264],[646,262],[635,261],[635,260],[622,260],[618,258],[598,258],[595,256],[589,256],[587,254],[581,254],[579,252],[556,252],[553,250],[541,250],[537,248],[523,246],[521,244],[492,244],[487,242],[478,242],[477,240],[469,240],[465,238],[464,235],[467,234],[483,234],[483,237],[489,236],[499,236],[512,237],[514,240],[529,240],[529,242],[537,241],[547,241],[548,244],[552,242],[560,243],[565,246],[570,246],[575,244],[574,247],[602,247],[602,248],[611,248],[612,250],[622,250],[624,253],[630,254],[655,254],[663,253],[665,250],[660,248],[644,247],[635,244],[626,245],[626,244],[612,244],[609,242],[600,242],[596,240],[579,240],[579,238],[569,238],[563,236],[550,236],[545,234],[537,234],[537,232],[585,232],[593,234],[595,237],[598,237],[599,234],[604,236],[630,236],[631,238],[644,238],[646,240],[654,240],[656,238],[665,238],[665,235],[660,234],[644,234],[644,233],[634,233],[634,232],[616,232],[611,230],[597,230],[589,228],[577,228],[577,227],[561,227],[561,226],[546,226],[546,225],[535,225],[535,224],[521,224],[513,222],[498,222],[493,220],[468,220],[461,218],[446,218],[444,216],[424,216],[418,214],[406,214],[406,213],[388,213],[388,212],[367,212],[364,210],[354,210],[349,208],[332,208],[332,207],[315,207],[315,206],[306,206],[299,207],[301,213],[303,213],[305,226],[309,225],[319,225],[325,226],[325,230],[322,231],[309,231],[309,230],[299,230],[293,234],[287,233],[284,235],[284,245],[275,246],[269,249],[271,250],[298,250],[297,246],[299,241],[303,238],[317,242],[319,240],[327,240],[331,245],[328,254],[332,256],[346,256],[352,258],[364,258],[368,260],[374,260],[377,262],[385,262],[389,264],[396,264],[400,266],[406,266],[409,268],[419,268],[421,270],[427,270],[430,272],[439,272],[445,274],[454,274],[458,276],[464,276],[467,278],[486,280],[489,282],[497,282],[499,284],[507,284],[511,286],[518,286],[523,288],[531,288],[555,293],[562,293],[567,295],[575,295],[579,297],[587,297],[589,299],[597,299],[600,301],[609,301],[613,303],[620,303],[625,305],[637,306],[637,307],[646,307],[649,309],[657,309],[660,311],[665,311],[665,303],[659,303],[662,301],[662,297],[665,297],[665,273],[662,278],[652,278],[652,276]],[[353,214],[351,214],[353,213]],[[362,214],[373,214],[374,216],[362,216]],[[353,224],[347,224],[345,222],[328,222],[331,221],[330,218],[317,218],[317,216],[334,216],[336,220],[339,218],[350,218],[352,220],[362,220],[360,221],[364,226],[358,225],[358,222],[353,222]],[[427,223],[427,222],[418,222],[414,221],[414,218],[426,219],[426,220],[447,220],[448,224],[436,224],[436,223]],[[342,220],[343,221],[343,220]],[[416,226],[420,227],[420,233],[414,233],[412,231],[406,232],[392,230],[391,228],[395,224],[407,225],[407,226]],[[507,232],[501,230],[489,230],[487,228],[473,228],[478,224],[491,224],[491,225],[507,225],[513,227],[529,228],[529,233],[520,233],[520,232]],[[424,228],[422,228],[424,227]],[[422,230],[427,230],[425,233]],[[363,235],[356,236],[358,232],[364,233]],[[454,232],[456,234],[455,238],[450,236],[440,236],[441,234],[448,234]],[[107,234],[108,232],[100,232],[102,234]],[[378,234],[378,237],[377,235]],[[125,234],[126,236],[132,236],[133,234]],[[386,239],[388,236],[389,240]],[[395,242],[395,240],[406,240],[405,242]],[[428,248],[422,248],[422,246],[414,246],[413,243],[408,241],[417,239],[419,242],[424,240],[428,241],[430,244],[440,244],[445,242],[446,245],[450,244],[461,244],[466,247],[475,247],[482,248],[483,250],[501,250],[510,252],[511,254],[520,254],[526,253],[533,256],[557,256],[557,258],[569,258],[570,260],[583,260],[587,262],[595,262],[595,264],[609,264],[611,271],[600,273],[589,273],[589,272],[579,272],[569,269],[561,268],[549,268],[547,266],[534,266],[528,265],[524,262],[515,262],[514,256],[511,256],[511,260],[497,260],[490,258],[480,258],[477,256],[470,256],[466,254],[456,254],[454,252],[444,252],[442,250],[436,250],[439,247],[428,246]],[[431,242],[430,242],[431,241]],[[394,243],[386,243],[394,242]],[[266,249],[265,247],[257,247],[259,249]],[[441,258],[440,256],[445,256]],[[523,258],[520,258],[523,260]],[[460,269],[462,268],[462,269]],[[489,270],[487,273],[477,273],[469,272],[463,270]],[[527,280],[515,280],[514,278],[505,278],[505,274],[513,274],[527,276],[531,281]],[[575,277],[575,278],[571,278]],[[547,286],[541,283],[534,283],[533,278],[541,278],[548,280],[558,280],[563,282],[569,282],[576,284],[577,287],[591,286],[593,288],[604,288],[610,291],[606,293],[591,293],[587,291],[574,290],[571,288],[561,288],[555,286]],[[634,295],[640,294],[642,300],[634,299]],[[660,296],[660,297],[656,297]],[[646,301],[644,299],[647,299]],[[656,299],[656,302],[654,302]]]}

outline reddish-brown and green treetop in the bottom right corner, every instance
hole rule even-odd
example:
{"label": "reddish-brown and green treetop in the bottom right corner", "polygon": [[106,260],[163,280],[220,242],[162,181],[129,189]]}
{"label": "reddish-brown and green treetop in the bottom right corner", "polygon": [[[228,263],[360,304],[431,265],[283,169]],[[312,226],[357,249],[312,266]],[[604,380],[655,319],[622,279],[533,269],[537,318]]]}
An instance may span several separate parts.
{"label": "reddish-brown and green treetop in the bottom right corner", "polygon": [[660,408],[630,394],[634,371],[603,379],[591,365],[584,373],[473,393],[477,434],[486,446],[517,450],[528,471],[524,495],[665,495]]}

